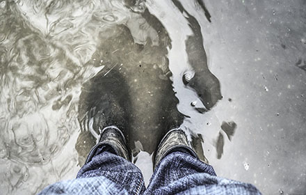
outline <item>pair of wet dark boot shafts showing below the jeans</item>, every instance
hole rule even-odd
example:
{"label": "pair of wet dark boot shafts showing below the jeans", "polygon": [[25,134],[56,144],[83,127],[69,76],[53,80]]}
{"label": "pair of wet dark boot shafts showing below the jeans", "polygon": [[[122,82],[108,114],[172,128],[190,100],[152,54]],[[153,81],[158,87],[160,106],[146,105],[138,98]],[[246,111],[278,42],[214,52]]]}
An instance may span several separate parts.
{"label": "pair of wet dark boot shafts showing below the jeans", "polygon": [[[111,146],[115,154],[131,162],[131,150],[127,146],[127,141],[118,127],[109,126],[100,130],[97,144],[90,150],[86,163],[90,162],[92,157],[95,155],[97,148],[101,146]],[[154,170],[163,157],[166,157],[166,155],[175,151],[189,153],[193,155],[193,157],[198,158],[198,155],[191,147],[185,132],[179,129],[170,130],[163,139],[161,139],[159,146],[156,148],[153,162]]]}

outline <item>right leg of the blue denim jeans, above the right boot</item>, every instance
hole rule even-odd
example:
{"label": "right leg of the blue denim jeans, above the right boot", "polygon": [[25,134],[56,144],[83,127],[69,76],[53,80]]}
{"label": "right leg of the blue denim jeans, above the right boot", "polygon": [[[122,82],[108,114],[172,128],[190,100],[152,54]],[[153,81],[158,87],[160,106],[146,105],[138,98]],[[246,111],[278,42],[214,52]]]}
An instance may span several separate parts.
{"label": "right leg of the blue denim jeans, above the right boot", "polygon": [[219,178],[212,166],[188,153],[164,157],[145,194],[260,194],[252,185]]}

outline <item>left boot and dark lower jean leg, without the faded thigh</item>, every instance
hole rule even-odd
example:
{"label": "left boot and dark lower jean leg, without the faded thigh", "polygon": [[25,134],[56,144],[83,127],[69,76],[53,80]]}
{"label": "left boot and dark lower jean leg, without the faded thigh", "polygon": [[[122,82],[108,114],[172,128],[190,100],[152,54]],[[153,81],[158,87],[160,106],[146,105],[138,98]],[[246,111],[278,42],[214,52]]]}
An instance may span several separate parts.
{"label": "left boot and dark lower jean leg, without the faded thigh", "polygon": [[90,151],[77,178],[104,176],[129,194],[142,194],[145,190],[143,175],[130,162],[130,152],[122,132],[116,127],[106,127],[101,134],[99,143]]}

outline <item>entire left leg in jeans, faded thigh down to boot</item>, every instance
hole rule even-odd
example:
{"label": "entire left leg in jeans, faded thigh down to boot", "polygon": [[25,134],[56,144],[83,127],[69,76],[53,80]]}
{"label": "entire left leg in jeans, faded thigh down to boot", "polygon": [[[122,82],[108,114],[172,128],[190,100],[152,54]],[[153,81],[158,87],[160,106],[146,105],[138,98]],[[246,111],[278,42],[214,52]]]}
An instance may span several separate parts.
{"label": "entire left leg in jeans, faded thigh down to boot", "polygon": [[40,194],[143,194],[145,183],[117,127],[106,127],[77,178],[49,185]]}

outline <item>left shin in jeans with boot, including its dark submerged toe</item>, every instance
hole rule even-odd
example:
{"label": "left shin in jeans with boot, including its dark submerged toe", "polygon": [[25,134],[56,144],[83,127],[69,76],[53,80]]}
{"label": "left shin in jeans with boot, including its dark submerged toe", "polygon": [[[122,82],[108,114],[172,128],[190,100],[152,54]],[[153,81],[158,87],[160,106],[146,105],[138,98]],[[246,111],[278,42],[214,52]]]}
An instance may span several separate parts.
{"label": "left shin in jeans with boot, including its dark submerged toe", "polygon": [[84,84],[80,99],[79,121],[82,130],[92,129],[92,134],[99,134],[99,130],[105,128],[100,131],[99,141],[90,150],[77,178],[104,176],[118,187],[127,189],[130,194],[143,192],[143,176],[131,163],[131,152],[125,140],[130,130],[130,104],[129,86],[122,73],[115,68],[104,68]]}

